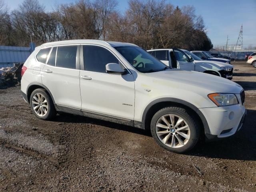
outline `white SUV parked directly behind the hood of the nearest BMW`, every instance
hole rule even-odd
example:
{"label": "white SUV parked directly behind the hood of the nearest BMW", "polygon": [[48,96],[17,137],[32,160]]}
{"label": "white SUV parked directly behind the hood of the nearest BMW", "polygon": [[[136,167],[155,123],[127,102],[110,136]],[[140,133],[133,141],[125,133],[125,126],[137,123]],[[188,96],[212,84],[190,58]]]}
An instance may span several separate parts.
{"label": "white SUV parked directly behind the hood of the nearest BMW", "polygon": [[167,66],[182,70],[198,71],[232,79],[233,66],[224,62],[202,60],[184,49],[151,49],[150,54]]}

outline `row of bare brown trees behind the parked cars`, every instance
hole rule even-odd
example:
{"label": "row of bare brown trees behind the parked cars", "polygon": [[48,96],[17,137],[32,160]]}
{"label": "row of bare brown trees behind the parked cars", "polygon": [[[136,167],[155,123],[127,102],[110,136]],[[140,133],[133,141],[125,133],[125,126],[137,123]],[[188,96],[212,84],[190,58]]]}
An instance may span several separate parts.
{"label": "row of bare brown trees behind the parked cars", "polygon": [[0,45],[28,46],[30,41],[100,39],[130,42],[145,49],[210,50],[203,18],[193,6],[174,7],[165,0],[128,0],[126,12],[116,0],[79,0],[46,11],[38,0],[8,10],[0,0]]}

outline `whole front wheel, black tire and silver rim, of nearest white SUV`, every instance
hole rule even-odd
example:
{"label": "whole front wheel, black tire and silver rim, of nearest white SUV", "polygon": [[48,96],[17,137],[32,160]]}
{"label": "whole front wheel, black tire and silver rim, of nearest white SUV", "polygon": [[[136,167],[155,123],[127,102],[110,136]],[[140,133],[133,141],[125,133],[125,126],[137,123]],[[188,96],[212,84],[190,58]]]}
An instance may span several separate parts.
{"label": "whole front wheel, black tire and silver rim, of nearest white SUV", "polygon": [[[170,123],[169,129],[166,127],[165,128],[158,127],[158,126],[166,125],[162,120],[163,116],[165,117],[165,120],[167,120]],[[171,123],[170,116],[172,117],[174,116],[173,124]],[[180,123],[180,125],[178,125],[179,120],[183,120]],[[178,125],[178,126],[176,127],[175,125]],[[186,126],[188,126],[188,128]],[[156,112],[156,114],[153,116],[151,120],[150,130],[157,144],[159,144],[162,148],[175,153],[184,153],[191,150],[198,143],[200,139],[200,133],[201,133],[197,118],[190,115],[186,109],[178,108],[178,107],[167,107]],[[166,134],[163,134],[164,132],[166,132]],[[186,138],[184,137],[184,134],[186,135]],[[189,135],[189,138],[188,138],[188,135]],[[174,140],[172,139],[173,137],[174,137]],[[181,141],[183,140],[183,144],[184,144],[183,146],[182,146],[182,142],[180,142],[178,138]],[[166,144],[164,144],[165,139],[167,141]],[[172,140],[174,142],[172,142]]]}

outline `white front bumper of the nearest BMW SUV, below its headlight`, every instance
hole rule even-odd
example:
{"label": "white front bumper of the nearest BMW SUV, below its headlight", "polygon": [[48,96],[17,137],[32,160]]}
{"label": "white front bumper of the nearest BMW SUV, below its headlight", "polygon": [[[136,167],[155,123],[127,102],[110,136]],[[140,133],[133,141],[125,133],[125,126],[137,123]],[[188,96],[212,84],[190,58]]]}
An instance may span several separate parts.
{"label": "white front bumper of the nearest BMW SUV, below its headlight", "polygon": [[246,116],[246,109],[242,104],[200,108],[200,111],[204,114],[210,129],[210,134],[205,134],[207,141],[234,135],[242,128]]}

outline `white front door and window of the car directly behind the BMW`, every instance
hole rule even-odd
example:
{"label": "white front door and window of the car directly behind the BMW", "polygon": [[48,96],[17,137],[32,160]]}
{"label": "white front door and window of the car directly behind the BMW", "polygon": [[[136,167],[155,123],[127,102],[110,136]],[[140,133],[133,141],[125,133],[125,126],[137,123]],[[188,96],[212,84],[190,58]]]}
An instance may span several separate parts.
{"label": "white front door and window of the car directly behind the BMW", "polygon": [[180,49],[172,49],[174,51],[174,55],[177,60],[177,68],[182,70],[189,70],[194,71],[195,70],[195,64],[194,62],[190,62],[190,59],[186,53],[184,53]]}

